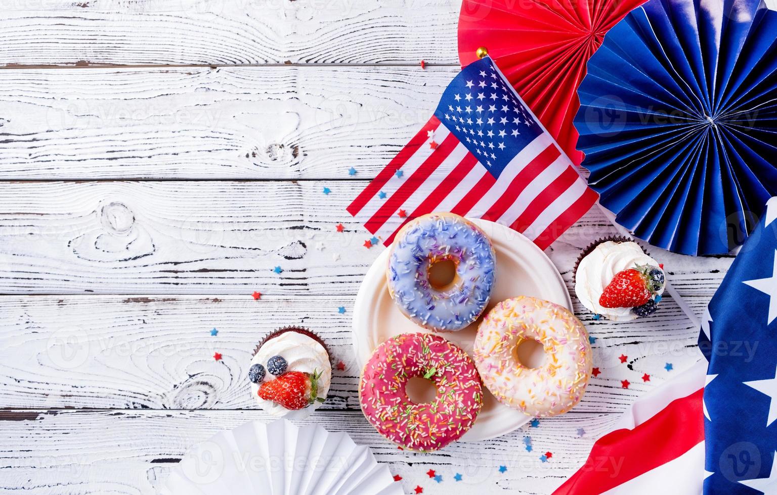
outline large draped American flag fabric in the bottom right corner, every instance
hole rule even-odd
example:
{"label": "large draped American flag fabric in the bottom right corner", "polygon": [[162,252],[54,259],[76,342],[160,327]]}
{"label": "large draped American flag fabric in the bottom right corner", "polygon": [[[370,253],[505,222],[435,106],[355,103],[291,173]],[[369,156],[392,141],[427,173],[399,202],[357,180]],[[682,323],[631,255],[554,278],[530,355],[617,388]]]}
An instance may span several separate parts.
{"label": "large draped American flag fabric in the bottom right corner", "polygon": [[777,493],[777,197],[710,301],[699,350],[554,495]]}

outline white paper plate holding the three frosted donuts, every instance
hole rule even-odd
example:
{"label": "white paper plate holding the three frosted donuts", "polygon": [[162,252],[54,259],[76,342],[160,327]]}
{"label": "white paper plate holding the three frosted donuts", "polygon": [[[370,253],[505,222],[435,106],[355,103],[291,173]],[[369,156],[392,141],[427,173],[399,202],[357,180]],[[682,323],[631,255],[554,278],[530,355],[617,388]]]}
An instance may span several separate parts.
{"label": "white paper plate holding the three frosted donuts", "polygon": [[[497,283],[486,312],[500,301],[515,296],[533,296],[572,309],[570,293],[566,290],[559,271],[539,247],[522,234],[500,223],[469,219],[483,229],[497,251]],[[395,306],[386,286],[386,268],[389,249],[385,249],[372,264],[361,282],[354,306],[354,351],[360,367],[372,355],[372,351],[389,337],[412,332],[428,332],[413,324]],[[485,313],[484,313],[485,314]],[[440,333],[472,354],[472,344],[480,320],[458,332]],[[528,358],[529,362],[542,359],[542,348]],[[434,390],[413,389],[408,393],[419,400],[430,400]],[[510,409],[497,401],[485,387],[484,403],[475,425],[462,437],[462,441],[479,441],[495,438],[514,431],[526,424],[531,417]]]}

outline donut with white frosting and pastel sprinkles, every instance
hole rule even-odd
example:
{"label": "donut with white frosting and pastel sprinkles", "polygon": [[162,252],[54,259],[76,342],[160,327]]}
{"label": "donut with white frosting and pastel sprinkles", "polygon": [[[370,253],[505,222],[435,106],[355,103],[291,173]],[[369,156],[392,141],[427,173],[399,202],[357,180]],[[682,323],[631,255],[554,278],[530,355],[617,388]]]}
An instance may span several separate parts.
{"label": "donut with white frosting and pastel sprinkles", "polygon": [[[528,368],[515,355],[524,339],[545,349],[545,362]],[[491,310],[478,327],[473,352],[483,384],[501,403],[530,416],[572,409],[591,376],[591,343],[580,320],[563,306],[514,297]]]}

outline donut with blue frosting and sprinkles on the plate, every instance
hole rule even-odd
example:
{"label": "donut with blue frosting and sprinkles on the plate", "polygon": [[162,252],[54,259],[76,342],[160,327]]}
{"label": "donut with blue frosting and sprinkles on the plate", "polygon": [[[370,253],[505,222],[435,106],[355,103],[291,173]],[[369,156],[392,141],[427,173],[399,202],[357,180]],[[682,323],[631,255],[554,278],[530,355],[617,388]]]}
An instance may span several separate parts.
{"label": "donut with blue frosting and sprinkles on the plate", "polygon": [[[419,216],[392,244],[389,293],[421,327],[462,330],[486,309],[496,258],[490,239],[469,220],[453,213]],[[441,279],[443,265],[449,274]]]}

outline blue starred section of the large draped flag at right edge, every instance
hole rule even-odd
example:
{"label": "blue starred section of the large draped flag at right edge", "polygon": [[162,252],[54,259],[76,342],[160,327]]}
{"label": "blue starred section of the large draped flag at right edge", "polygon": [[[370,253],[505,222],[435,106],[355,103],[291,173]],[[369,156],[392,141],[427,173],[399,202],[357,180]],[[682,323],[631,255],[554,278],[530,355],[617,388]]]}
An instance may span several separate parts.
{"label": "blue starred section of the large draped flag at right edge", "polygon": [[[704,493],[777,493],[777,198],[702,321]],[[688,473],[692,476],[692,473]]]}

